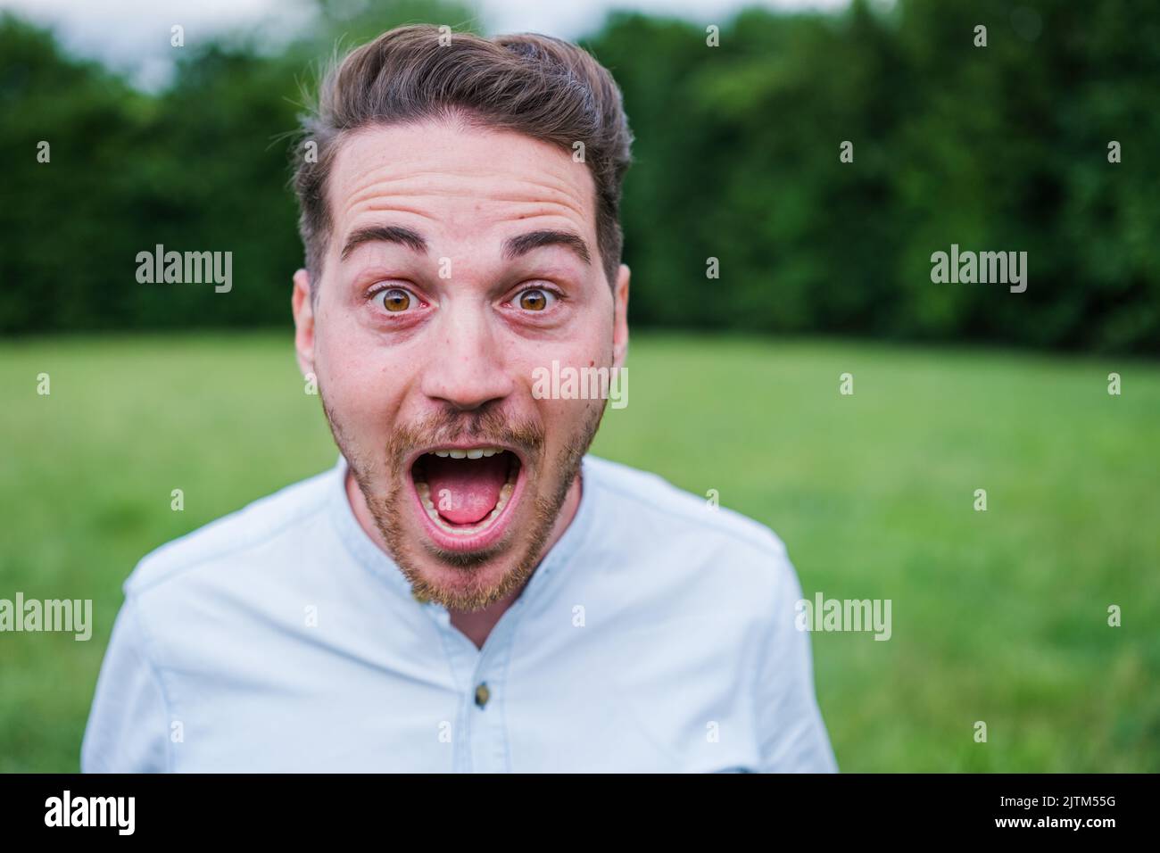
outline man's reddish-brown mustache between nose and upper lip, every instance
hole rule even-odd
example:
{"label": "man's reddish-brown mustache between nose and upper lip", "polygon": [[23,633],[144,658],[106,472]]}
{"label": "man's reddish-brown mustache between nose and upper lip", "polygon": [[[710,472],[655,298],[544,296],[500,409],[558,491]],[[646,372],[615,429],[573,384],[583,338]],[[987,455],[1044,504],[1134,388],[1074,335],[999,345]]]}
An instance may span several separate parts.
{"label": "man's reddish-brown mustache between nose and upper lip", "polygon": [[407,457],[416,447],[438,447],[456,441],[513,447],[531,463],[539,458],[545,435],[538,420],[510,419],[499,409],[445,410],[396,427],[386,442],[386,458],[394,475],[401,476]]}

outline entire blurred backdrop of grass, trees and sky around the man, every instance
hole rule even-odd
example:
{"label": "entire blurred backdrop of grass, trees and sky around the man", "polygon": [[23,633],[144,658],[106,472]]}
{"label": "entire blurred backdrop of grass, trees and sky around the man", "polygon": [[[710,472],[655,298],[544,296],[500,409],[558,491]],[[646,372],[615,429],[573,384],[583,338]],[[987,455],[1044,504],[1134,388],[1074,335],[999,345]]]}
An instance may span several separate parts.
{"label": "entire blurred backdrop of grass, trees and sky around the man", "polygon": [[[288,133],[336,45],[409,22],[621,85],[631,405],[595,451],[769,525],[807,598],[893,601],[890,642],[812,635],[842,769],[1160,771],[1160,9],[131,6],[0,0],[0,598],[95,621],[0,634],[0,771],[77,769],[142,556],[333,464]],[[138,283],[155,244],[233,252],[232,290]],[[933,283],[951,244],[1025,251],[1027,291]]]}

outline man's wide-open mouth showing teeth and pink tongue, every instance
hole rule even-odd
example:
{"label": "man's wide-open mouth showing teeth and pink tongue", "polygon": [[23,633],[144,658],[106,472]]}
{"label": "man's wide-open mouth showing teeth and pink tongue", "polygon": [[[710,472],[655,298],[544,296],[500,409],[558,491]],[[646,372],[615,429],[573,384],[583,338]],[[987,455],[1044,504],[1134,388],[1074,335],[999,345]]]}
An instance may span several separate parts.
{"label": "man's wide-open mouth showing teeth and pink tongue", "polygon": [[442,548],[474,550],[498,540],[522,492],[523,465],[500,447],[448,447],[411,467],[420,516]]}

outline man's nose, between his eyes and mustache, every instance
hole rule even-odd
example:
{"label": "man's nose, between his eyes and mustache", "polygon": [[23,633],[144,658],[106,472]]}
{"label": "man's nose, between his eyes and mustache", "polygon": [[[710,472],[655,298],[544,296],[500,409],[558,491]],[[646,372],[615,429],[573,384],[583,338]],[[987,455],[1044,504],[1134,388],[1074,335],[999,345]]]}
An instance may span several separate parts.
{"label": "man's nose, between his eyes and mustache", "polygon": [[508,397],[515,383],[486,308],[459,301],[442,311],[423,370],[423,393],[464,412]]}

